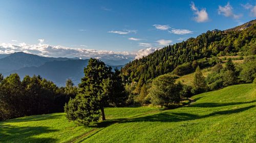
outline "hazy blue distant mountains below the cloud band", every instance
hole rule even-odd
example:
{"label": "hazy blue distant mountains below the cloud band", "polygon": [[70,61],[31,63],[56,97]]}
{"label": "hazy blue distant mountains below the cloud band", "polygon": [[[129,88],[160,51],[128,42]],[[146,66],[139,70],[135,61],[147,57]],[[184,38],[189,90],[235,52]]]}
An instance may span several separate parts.
{"label": "hazy blue distant mountains below the cloud band", "polygon": [[[83,68],[88,65],[88,61],[89,59],[49,58],[17,52],[0,55],[0,73],[5,77],[17,73],[20,78],[26,75],[40,75],[58,86],[65,86],[66,80],[71,79],[77,85],[84,76]],[[120,69],[125,64],[125,60],[111,60],[106,64],[112,66],[113,69]]]}

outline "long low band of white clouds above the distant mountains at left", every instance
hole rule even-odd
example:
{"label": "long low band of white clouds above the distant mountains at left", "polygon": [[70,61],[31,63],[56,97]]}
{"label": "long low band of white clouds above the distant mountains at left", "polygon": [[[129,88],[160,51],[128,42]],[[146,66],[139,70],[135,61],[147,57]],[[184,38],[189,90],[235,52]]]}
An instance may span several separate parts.
{"label": "long low band of white clouds above the distant mountains at left", "polygon": [[11,43],[2,43],[0,44],[0,54],[11,54],[14,52],[26,52],[30,54],[35,54],[45,57],[81,57],[83,59],[95,58],[109,56],[114,59],[120,58],[134,58],[135,53],[130,52],[114,52],[106,50],[94,50],[94,49],[82,49],[82,48],[72,48],[60,45],[49,45],[49,44],[11,44]]}

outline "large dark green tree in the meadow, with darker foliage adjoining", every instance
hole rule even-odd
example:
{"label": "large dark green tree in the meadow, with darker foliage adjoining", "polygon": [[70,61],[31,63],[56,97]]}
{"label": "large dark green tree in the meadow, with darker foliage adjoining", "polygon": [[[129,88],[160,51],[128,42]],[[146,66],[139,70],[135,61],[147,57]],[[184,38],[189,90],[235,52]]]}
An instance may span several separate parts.
{"label": "large dark green tree in the meadow, with darker foliage adjoining", "polygon": [[119,71],[112,72],[104,62],[90,59],[84,68],[84,77],[79,84],[78,96],[65,105],[66,116],[70,121],[83,125],[105,120],[104,107],[119,106],[124,103],[124,87]]}

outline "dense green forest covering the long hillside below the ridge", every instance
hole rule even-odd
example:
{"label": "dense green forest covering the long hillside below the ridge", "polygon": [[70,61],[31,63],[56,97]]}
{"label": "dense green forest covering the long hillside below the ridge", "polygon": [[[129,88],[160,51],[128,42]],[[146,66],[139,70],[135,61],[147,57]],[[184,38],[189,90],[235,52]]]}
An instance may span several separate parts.
{"label": "dense green forest covering the long hillside below the ridge", "polygon": [[[133,92],[139,94],[143,84],[150,83],[157,76],[170,73],[178,66],[181,69],[177,70],[182,72],[182,64],[191,65],[189,70],[195,71],[193,62],[200,59],[254,54],[256,54],[255,24],[243,31],[207,31],[197,38],[189,38],[186,41],[168,45],[146,57],[130,62],[121,69],[121,73],[123,81],[129,85],[133,84],[132,88],[135,88]],[[199,63],[206,66],[212,64],[210,62]]]}

